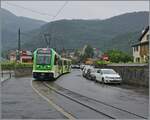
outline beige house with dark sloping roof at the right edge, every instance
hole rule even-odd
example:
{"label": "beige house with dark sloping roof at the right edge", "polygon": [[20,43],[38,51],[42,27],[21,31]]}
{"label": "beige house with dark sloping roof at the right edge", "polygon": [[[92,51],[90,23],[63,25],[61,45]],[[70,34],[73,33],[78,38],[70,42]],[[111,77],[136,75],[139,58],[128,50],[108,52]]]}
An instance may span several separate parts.
{"label": "beige house with dark sloping roof at the right edge", "polygon": [[134,62],[144,63],[149,60],[149,26],[142,32],[139,41],[132,45]]}

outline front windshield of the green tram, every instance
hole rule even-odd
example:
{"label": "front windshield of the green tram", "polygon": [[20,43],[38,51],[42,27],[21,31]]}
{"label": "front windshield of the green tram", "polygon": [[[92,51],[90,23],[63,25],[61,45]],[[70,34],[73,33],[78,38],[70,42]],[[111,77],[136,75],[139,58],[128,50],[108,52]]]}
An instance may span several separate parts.
{"label": "front windshield of the green tram", "polygon": [[48,65],[50,64],[50,54],[37,54],[37,61],[38,65]]}

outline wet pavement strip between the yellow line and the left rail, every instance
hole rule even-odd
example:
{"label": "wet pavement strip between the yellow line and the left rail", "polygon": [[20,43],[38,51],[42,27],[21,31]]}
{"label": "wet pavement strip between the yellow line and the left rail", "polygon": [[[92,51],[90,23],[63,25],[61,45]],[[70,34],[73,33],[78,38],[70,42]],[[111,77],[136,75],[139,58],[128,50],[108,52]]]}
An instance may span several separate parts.
{"label": "wet pavement strip between the yellow line and the left rail", "polygon": [[[52,82],[47,82],[51,84]],[[51,101],[55,102],[59,107],[73,116],[74,119],[109,119],[110,117],[106,114],[96,112],[87,106],[81,105],[71,99],[68,99],[60,94],[57,94],[53,90],[46,87],[43,82],[33,81],[33,86],[36,88],[42,95]]]}

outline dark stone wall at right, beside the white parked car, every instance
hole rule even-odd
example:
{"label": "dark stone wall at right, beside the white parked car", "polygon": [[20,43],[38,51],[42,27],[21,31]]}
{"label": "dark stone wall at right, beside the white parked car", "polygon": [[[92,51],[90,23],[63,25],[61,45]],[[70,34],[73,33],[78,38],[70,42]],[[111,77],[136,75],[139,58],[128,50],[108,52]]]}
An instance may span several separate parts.
{"label": "dark stone wall at right, beside the white parked car", "polygon": [[149,66],[146,64],[108,64],[98,68],[114,69],[125,84],[149,87]]}

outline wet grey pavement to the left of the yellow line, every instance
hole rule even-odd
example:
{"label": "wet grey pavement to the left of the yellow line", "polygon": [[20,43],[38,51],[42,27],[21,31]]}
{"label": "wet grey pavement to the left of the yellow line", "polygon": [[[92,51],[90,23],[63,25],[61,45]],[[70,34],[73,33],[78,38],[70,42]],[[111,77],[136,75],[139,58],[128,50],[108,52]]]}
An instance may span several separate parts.
{"label": "wet grey pavement to the left of the yellow line", "polygon": [[2,84],[3,119],[64,119],[66,118],[36,94],[31,77],[12,78]]}

